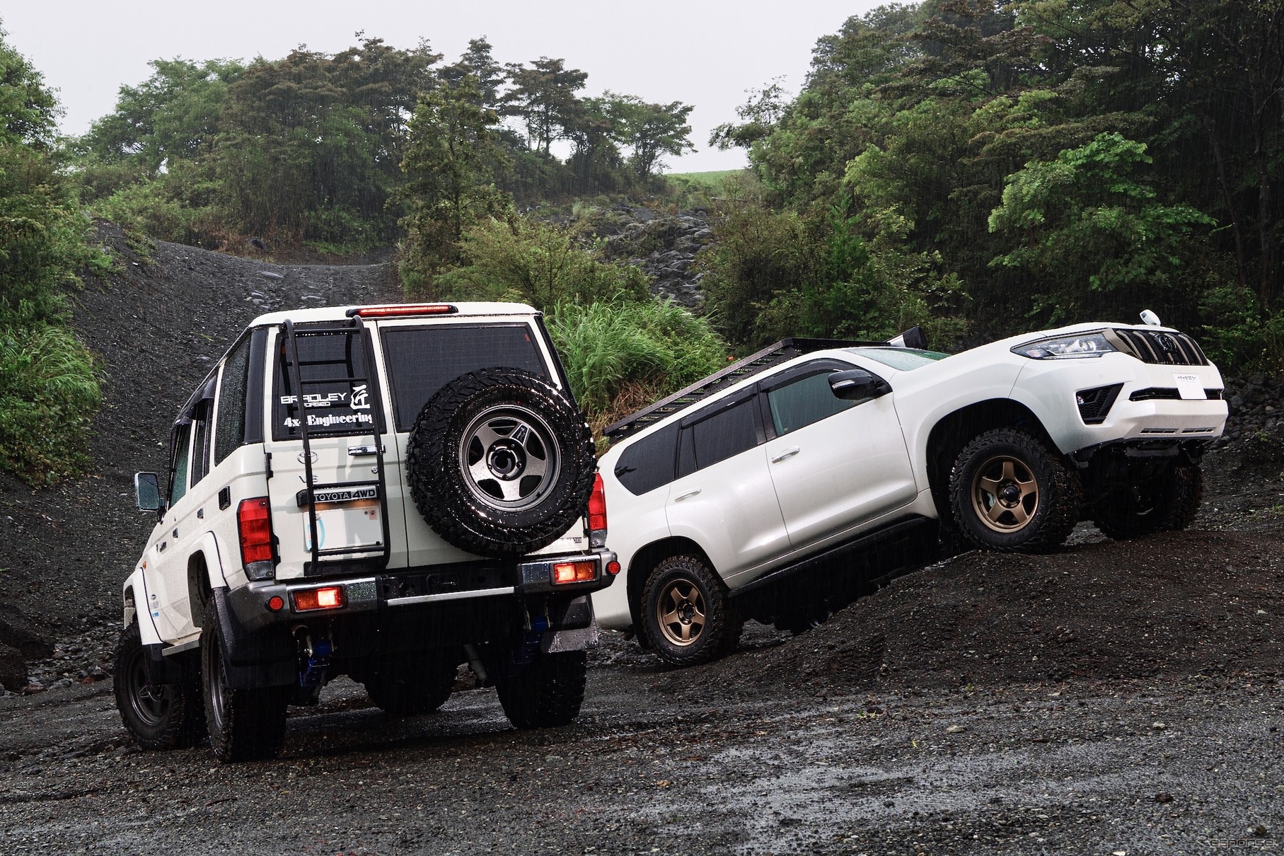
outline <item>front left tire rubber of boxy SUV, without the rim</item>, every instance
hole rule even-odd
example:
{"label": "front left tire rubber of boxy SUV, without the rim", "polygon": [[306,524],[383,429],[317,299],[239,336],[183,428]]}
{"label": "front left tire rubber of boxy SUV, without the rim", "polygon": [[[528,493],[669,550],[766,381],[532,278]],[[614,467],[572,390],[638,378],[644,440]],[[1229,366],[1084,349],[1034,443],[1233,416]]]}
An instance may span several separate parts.
{"label": "front left tire rubber of boxy SUV, without the rim", "polygon": [[121,711],[125,728],[139,746],[152,751],[185,749],[195,746],[205,734],[204,708],[200,701],[200,678],[193,674],[199,663],[195,658],[184,662],[182,683],[164,685],[169,710],[159,723],[139,719],[131,694],[139,689],[132,681],[132,671],[139,666],[136,657],[145,657],[139,622],[132,621],[121,631],[113,658],[112,692]]}

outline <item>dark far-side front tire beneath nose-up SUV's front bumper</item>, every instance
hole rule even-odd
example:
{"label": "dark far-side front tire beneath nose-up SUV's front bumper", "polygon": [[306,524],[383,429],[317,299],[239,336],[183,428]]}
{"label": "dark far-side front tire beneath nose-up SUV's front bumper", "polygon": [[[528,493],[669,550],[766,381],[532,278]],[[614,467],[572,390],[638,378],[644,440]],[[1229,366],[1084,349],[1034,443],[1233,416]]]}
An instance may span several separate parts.
{"label": "dark far-side front tire beneath nose-up SUV's front bumper", "polygon": [[1149,484],[1121,484],[1098,503],[1093,522],[1115,540],[1183,530],[1199,513],[1203,471],[1197,463],[1174,463]]}

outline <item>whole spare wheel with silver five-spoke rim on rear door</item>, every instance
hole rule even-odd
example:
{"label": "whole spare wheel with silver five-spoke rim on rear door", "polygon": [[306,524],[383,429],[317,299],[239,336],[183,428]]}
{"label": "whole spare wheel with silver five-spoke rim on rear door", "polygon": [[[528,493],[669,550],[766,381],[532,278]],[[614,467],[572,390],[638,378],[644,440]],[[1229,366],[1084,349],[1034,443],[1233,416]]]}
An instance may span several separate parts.
{"label": "whole spare wheel with silver five-spoke rim on rear door", "polygon": [[569,398],[519,368],[456,377],[419,412],[406,450],[419,513],[451,544],[521,556],[557,540],[593,489],[593,438]]}

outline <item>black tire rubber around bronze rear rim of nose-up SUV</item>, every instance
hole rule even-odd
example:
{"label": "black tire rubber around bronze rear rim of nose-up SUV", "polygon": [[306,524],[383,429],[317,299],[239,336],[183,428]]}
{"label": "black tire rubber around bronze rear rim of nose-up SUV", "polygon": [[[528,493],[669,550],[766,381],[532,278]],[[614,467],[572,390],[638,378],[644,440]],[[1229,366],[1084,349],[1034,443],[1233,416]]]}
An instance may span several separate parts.
{"label": "black tire rubber around bronze rear rim of nose-up SUV", "polygon": [[[684,578],[700,588],[707,610],[700,639],[686,647],[674,646],[664,638],[657,616],[657,599],[664,586],[677,578]],[[651,649],[668,663],[696,666],[724,657],[740,644],[745,619],[727,585],[698,556],[670,556],[652,569],[642,588],[642,633]]]}

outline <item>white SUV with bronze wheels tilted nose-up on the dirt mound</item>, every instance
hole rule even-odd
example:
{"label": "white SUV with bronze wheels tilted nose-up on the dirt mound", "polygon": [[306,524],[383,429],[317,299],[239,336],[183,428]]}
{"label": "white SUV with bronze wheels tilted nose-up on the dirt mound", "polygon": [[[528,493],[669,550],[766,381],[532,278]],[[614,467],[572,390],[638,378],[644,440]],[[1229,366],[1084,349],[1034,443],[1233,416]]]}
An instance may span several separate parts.
{"label": "white SUV with bronze wheels tilted nose-up on the dirt mound", "polygon": [[625,584],[593,595],[597,620],[702,662],[746,617],[799,631],[931,560],[942,527],[998,551],[1055,548],[1081,517],[1112,538],[1185,527],[1222,380],[1143,318],[951,357],[785,340],[607,426]]}

